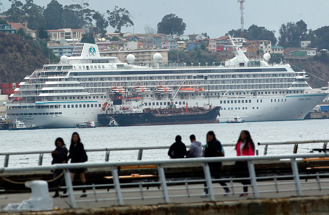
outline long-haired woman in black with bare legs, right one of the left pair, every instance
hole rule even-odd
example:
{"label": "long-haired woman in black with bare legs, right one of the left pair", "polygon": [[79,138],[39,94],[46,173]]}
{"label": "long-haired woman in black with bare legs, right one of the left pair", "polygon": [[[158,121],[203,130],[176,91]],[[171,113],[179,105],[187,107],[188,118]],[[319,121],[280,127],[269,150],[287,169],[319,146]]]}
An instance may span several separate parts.
{"label": "long-haired woman in black with bare legs, right one of the left pair", "polygon": [[[67,157],[67,161],[71,159],[71,163],[84,163],[86,162],[86,154],[83,147],[83,144],[81,143],[80,136],[77,132],[74,132],[72,134],[71,138],[71,145],[69,149],[69,155]],[[79,177],[81,179],[81,185],[86,185],[86,178],[84,175],[84,172],[87,171],[86,168],[79,168],[79,169],[70,169],[70,175],[71,175],[71,181],[74,180],[75,174],[79,174]],[[85,194],[86,187],[82,188],[83,194],[80,197],[87,197]]]}

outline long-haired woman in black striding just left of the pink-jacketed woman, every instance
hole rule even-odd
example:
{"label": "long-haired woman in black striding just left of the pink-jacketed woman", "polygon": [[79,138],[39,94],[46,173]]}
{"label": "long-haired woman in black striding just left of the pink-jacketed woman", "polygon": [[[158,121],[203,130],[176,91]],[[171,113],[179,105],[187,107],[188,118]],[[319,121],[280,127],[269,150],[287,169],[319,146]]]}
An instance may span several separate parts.
{"label": "long-haired woman in black striding just left of the pink-jacketed woman", "polygon": [[[224,157],[224,150],[220,141],[216,139],[215,133],[213,131],[209,131],[207,133],[207,144],[205,147],[205,158],[210,157]],[[212,162],[208,163],[210,174],[215,179],[221,179],[221,169],[222,162]],[[224,181],[219,181],[223,187],[225,193],[229,193],[230,189],[227,187],[227,184]],[[207,187],[207,182],[205,182],[205,187]],[[208,189],[204,189],[204,196],[208,195]],[[226,195],[226,194],[225,194]]]}

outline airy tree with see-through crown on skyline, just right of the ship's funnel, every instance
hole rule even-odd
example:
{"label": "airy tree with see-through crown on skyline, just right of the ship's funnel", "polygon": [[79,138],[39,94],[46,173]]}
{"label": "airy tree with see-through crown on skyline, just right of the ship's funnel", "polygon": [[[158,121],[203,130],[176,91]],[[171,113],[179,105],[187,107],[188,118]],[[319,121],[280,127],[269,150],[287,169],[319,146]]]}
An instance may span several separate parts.
{"label": "airy tree with see-through crown on skyline, just right of the ship's funnel", "polygon": [[130,27],[134,25],[131,19],[132,15],[125,8],[115,6],[113,11],[107,10],[106,13],[109,15],[107,17],[109,25],[115,28],[114,32],[121,33],[121,28],[123,26]]}

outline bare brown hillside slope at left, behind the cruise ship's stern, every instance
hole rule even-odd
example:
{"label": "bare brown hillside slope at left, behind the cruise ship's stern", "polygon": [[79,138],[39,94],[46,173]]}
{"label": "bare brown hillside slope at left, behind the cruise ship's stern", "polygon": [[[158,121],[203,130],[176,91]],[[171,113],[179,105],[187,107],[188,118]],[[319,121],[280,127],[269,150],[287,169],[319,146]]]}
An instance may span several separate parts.
{"label": "bare brown hillside slope at left, behind the cruise ship's stern", "polygon": [[21,82],[48,63],[44,48],[37,44],[14,34],[0,33],[0,83]]}

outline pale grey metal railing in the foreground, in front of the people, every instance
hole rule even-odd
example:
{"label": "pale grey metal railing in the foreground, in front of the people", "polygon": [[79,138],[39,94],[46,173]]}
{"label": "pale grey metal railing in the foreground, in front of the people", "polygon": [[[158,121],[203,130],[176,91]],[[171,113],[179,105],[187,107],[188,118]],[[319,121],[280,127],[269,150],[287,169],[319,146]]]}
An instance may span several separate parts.
{"label": "pale grey metal railing in the foreground, in front of the people", "polygon": [[[103,163],[77,163],[77,164],[56,164],[51,166],[36,166],[36,167],[19,167],[19,168],[0,168],[2,173],[20,172],[20,171],[33,171],[40,170],[54,170],[63,169],[67,188],[69,205],[70,207],[77,207],[77,203],[94,202],[93,207],[97,207],[100,202],[106,201],[106,205],[124,205],[124,204],[152,204],[152,201],[156,199],[159,203],[170,202],[196,202],[202,195],[203,189],[208,188],[207,198],[209,201],[218,201],[225,198],[235,198],[243,192],[236,191],[237,188],[242,190],[240,185],[241,180],[250,180],[250,186],[252,191],[245,192],[250,194],[249,198],[282,198],[294,196],[302,196],[304,193],[307,196],[319,195],[321,191],[322,195],[327,195],[329,191],[329,173],[313,173],[313,174],[300,174],[297,161],[302,158],[323,158],[327,157],[327,153],[306,153],[306,154],[286,154],[286,155],[261,155],[261,156],[245,156],[245,157],[220,157],[220,158],[194,158],[194,159],[171,159],[171,160],[157,160],[157,161],[131,161],[131,162],[103,162]],[[288,160],[291,164],[291,172],[276,173],[274,175],[257,176],[257,171],[254,168],[255,161],[261,161],[262,163],[268,161]],[[236,162],[246,161],[249,170],[248,178],[233,178],[229,175],[229,178],[212,179],[211,170],[208,163],[211,162]],[[164,166],[171,165],[170,169],[177,168],[178,165],[193,165],[202,164],[203,174],[202,179],[187,177],[184,179],[172,180],[166,177],[166,168]],[[122,183],[119,180],[118,166],[140,166],[140,165],[156,165],[157,180],[146,182],[130,182]],[[113,182],[108,184],[87,185],[87,186],[72,186],[70,179],[69,169],[72,168],[97,168],[106,167],[111,169]],[[308,182],[301,182],[301,177],[316,178],[316,181],[308,180]],[[231,192],[225,193],[223,187],[216,186],[214,183],[226,181],[227,186]],[[204,183],[207,185],[203,185]],[[150,189],[146,186],[152,186]],[[159,189],[156,187],[159,186]],[[82,194],[80,191],[74,191],[74,188],[81,189],[82,187],[90,188],[86,194],[88,198],[76,199],[76,196]],[[113,188],[114,190],[109,190]],[[106,191],[107,189],[107,191]],[[90,191],[89,191],[90,190]],[[312,193],[315,192],[315,193]],[[197,198],[196,198],[197,197]],[[187,198],[184,200],[184,198]],[[227,200],[227,199],[226,199]],[[111,202],[111,203],[108,203]],[[90,207],[90,205],[89,205]]]}

